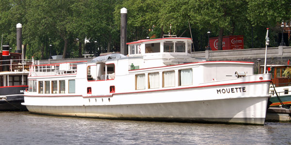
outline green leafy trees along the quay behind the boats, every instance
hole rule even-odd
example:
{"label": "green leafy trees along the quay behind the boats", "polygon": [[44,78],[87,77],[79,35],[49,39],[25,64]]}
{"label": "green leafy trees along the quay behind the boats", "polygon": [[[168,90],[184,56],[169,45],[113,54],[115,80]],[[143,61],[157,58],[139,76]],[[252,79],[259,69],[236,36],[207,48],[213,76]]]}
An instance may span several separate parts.
{"label": "green leafy trees along the quay behind the boats", "polygon": [[[0,35],[14,50],[16,24],[21,23],[28,58],[48,58],[49,44],[51,55],[65,58],[78,57],[79,43],[90,53],[93,46],[98,53],[119,51],[123,7],[128,9],[128,42],[170,31],[191,37],[191,30],[199,51],[207,45],[207,31],[217,37],[221,29],[224,36],[243,35],[244,48],[252,43],[258,48],[265,46],[270,28],[270,46],[276,47],[280,22],[291,20],[290,0],[1,0]],[[91,42],[86,47],[85,39]]]}

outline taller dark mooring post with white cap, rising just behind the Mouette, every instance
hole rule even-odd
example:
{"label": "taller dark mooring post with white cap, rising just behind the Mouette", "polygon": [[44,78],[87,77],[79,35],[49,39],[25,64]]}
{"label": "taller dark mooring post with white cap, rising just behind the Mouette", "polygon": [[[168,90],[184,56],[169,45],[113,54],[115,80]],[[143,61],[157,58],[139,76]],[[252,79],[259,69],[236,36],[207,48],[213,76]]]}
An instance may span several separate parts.
{"label": "taller dark mooring post with white cap, rising just behind the Mouette", "polygon": [[120,10],[121,19],[120,19],[120,53],[127,55],[126,48],[126,31],[127,31],[127,9],[122,8]]}

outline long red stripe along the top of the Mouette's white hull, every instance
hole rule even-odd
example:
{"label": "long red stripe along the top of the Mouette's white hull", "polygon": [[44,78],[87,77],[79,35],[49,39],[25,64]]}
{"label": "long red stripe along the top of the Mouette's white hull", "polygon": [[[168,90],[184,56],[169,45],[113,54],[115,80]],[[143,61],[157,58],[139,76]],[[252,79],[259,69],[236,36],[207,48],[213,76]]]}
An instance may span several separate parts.
{"label": "long red stripe along the top of the Mouette's white hull", "polygon": [[82,95],[60,95],[60,96],[31,96],[31,95],[24,95],[24,96],[31,96],[31,97],[65,97],[65,96],[82,96],[83,98],[93,98],[93,97],[112,97],[113,95],[119,95],[119,94],[144,93],[144,92],[155,92],[155,91],[177,90],[177,89],[187,89],[187,88],[199,88],[199,87],[213,87],[213,86],[226,86],[226,85],[237,85],[237,84],[260,83],[260,82],[271,82],[271,80],[253,81],[253,82],[240,82],[240,83],[229,83],[229,84],[217,84],[217,85],[197,86],[197,87],[169,88],[169,89],[148,90],[148,91],[137,91],[137,92],[113,93],[113,94],[111,94],[111,95],[96,95],[96,96],[82,96]]}

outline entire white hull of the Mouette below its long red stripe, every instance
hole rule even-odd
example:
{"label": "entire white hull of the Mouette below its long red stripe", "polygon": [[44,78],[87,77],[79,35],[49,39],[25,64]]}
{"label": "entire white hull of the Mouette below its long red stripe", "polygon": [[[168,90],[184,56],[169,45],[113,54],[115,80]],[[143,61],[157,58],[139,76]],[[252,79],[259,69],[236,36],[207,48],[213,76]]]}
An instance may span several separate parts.
{"label": "entire white hull of the Mouette below its long red stripe", "polygon": [[[268,84],[218,85],[89,98],[26,96],[24,104],[32,113],[59,116],[264,124],[270,97]],[[219,88],[242,86],[246,92],[217,93]],[[30,102],[38,105],[29,105]]]}

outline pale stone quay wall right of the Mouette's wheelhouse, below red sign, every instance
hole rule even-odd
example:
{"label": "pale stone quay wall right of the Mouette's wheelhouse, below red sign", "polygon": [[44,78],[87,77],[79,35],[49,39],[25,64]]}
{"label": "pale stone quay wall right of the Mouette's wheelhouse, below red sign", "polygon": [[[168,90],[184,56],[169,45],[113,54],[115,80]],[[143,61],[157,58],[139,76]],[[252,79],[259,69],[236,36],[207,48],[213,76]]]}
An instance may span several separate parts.
{"label": "pale stone quay wall right of the Mouette's wheelhouse, below red sign", "polygon": [[[254,73],[258,73],[258,60],[260,65],[265,63],[266,48],[217,50],[192,52],[192,57],[206,58],[207,61],[249,61],[254,62]],[[291,59],[291,46],[268,47],[267,64],[287,65]]]}

